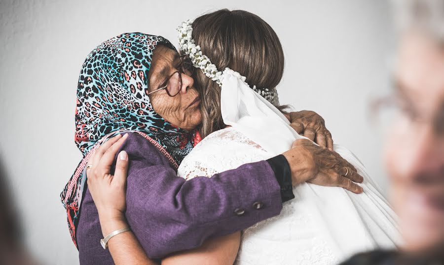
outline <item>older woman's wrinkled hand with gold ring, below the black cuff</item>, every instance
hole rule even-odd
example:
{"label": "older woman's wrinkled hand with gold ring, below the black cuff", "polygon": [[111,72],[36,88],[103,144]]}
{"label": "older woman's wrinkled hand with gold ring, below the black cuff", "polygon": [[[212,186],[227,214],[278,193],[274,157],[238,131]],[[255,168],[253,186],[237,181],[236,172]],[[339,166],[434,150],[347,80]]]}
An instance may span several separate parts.
{"label": "older woman's wrinkled hand with gold ring, below the black cuff", "polygon": [[313,144],[308,139],[297,139],[292,149],[283,154],[290,164],[293,185],[309,182],[320,186],[337,186],[353,193],[362,193],[355,182],[364,178],[356,168],[336,152]]}

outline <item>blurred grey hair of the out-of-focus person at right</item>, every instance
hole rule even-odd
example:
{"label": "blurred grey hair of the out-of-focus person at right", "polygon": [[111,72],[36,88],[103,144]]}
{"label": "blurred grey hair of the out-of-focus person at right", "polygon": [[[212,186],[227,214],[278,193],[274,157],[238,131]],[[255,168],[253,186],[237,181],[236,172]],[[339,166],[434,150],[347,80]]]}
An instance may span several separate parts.
{"label": "blurred grey hair of the out-of-focus person at right", "polygon": [[392,0],[401,33],[418,31],[444,44],[444,0]]}

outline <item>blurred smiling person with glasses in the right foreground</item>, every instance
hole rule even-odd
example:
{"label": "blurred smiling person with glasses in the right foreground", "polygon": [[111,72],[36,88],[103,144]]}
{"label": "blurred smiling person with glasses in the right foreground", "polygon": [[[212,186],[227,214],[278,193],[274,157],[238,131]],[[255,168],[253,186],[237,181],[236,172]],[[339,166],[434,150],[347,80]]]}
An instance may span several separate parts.
{"label": "blurred smiling person with glasses in the right foreground", "polygon": [[395,88],[380,110],[396,114],[384,158],[405,245],[346,265],[444,264],[444,0],[394,3],[401,30]]}

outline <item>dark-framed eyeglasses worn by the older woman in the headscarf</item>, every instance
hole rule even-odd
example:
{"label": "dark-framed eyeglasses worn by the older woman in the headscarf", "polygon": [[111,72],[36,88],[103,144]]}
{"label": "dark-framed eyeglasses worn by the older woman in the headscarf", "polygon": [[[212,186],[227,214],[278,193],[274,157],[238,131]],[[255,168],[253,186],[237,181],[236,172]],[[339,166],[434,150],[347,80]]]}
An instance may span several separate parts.
{"label": "dark-framed eyeglasses worn by the older woman in the headscarf", "polygon": [[148,93],[148,95],[152,94],[152,93],[156,93],[162,89],[165,89],[168,96],[170,97],[174,97],[177,94],[179,94],[179,92],[182,89],[182,73],[185,73],[189,76],[191,76],[194,73],[194,66],[192,65],[192,63],[189,61],[189,58],[186,56],[181,56],[181,63],[179,64],[178,71],[173,72],[168,79],[159,86],[158,89],[151,91]]}

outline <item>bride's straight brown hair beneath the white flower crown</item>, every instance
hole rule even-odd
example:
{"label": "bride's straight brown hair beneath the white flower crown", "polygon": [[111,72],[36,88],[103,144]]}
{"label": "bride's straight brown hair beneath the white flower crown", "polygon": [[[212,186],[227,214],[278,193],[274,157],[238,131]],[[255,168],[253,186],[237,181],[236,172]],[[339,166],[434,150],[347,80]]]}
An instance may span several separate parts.
{"label": "bride's straight brown hair beneath the white flower crown", "polygon": [[[277,34],[259,16],[243,10],[218,10],[196,18],[192,37],[216,67],[245,76],[250,86],[274,89],[284,72],[284,52]],[[225,127],[221,88],[200,70],[194,74],[202,108],[202,137]]]}

